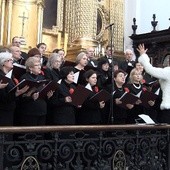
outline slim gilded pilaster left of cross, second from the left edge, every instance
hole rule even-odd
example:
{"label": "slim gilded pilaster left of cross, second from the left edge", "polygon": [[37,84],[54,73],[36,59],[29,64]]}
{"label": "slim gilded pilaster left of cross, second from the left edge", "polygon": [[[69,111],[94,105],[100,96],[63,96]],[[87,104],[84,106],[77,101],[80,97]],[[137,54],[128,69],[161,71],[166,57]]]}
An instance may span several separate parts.
{"label": "slim gilded pilaster left of cross, second from the left edge", "polygon": [[7,9],[8,9],[8,18],[7,18],[7,44],[11,43],[11,22],[12,22],[12,0],[8,0]]}

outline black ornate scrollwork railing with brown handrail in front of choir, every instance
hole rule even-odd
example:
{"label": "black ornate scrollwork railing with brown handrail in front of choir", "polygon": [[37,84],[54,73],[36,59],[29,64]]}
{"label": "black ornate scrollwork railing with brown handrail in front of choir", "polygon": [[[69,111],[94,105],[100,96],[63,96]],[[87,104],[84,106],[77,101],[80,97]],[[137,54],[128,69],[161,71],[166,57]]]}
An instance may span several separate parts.
{"label": "black ornate scrollwork railing with brown handrail in front of choir", "polygon": [[170,125],[0,127],[0,170],[169,170]]}

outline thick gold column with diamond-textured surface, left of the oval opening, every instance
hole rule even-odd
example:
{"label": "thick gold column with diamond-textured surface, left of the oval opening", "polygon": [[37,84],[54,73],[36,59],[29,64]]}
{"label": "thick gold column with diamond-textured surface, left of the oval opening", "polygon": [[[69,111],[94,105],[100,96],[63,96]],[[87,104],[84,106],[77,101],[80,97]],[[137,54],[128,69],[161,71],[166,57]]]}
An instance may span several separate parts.
{"label": "thick gold column with diamond-textured surface, left of the oval opening", "polygon": [[[65,32],[72,45],[87,45],[96,41],[97,0],[67,0]],[[88,9],[88,10],[87,10]]]}

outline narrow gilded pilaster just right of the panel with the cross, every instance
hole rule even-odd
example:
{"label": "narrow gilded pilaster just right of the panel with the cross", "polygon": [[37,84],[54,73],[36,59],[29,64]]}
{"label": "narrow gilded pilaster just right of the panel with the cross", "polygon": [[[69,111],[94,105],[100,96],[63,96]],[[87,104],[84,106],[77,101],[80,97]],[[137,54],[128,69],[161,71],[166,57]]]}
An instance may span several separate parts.
{"label": "narrow gilded pilaster just right of the panel with the cross", "polygon": [[38,8],[38,32],[37,32],[37,44],[42,42],[42,23],[43,23],[43,11],[44,11],[44,0],[37,1]]}

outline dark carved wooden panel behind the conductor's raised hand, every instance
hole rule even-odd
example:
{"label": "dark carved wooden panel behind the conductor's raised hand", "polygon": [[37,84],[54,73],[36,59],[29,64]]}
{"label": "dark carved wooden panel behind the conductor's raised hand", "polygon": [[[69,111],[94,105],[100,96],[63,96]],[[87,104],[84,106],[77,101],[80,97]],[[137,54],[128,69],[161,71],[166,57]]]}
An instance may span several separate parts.
{"label": "dark carved wooden panel behind the conductor's raised hand", "polygon": [[139,56],[137,46],[141,43],[145,44],[154,66],[163,65],[165,57],[170,54],[170,29],[132,35],[130,38],[133,40],[133,48],[137,57]]}

